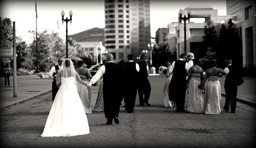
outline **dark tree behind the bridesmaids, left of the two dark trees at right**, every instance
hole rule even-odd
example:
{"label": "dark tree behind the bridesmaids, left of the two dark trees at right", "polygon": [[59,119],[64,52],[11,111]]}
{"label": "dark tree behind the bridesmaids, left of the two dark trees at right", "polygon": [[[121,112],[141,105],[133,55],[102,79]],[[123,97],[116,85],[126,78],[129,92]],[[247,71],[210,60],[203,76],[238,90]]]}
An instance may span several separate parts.
{"label": "dark tree behind the bridesmaids, left of the two dark trees at right", "polygon": [[207,25],[204,26],[204,36],[203,36],[203,46],[207,50],[210,47],[213,51],[215,51],[217,47],[217,31],[215,30],[215,26],[212,20],[207,22]]}

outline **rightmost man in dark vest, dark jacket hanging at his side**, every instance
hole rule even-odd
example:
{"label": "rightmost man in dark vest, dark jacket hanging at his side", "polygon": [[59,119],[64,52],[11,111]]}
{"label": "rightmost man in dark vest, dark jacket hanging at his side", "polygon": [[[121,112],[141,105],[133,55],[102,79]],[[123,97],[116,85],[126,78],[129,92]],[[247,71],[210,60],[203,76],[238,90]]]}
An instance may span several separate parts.
{"label": "rightmost man in dark vest, dark jacket hanging at his side", "polygon": [[243,83],[243,79],[240,74],[240,71],[236,70],[236,68],[232,65],[231,59],[226,59],[225,64],[227,66],[224,69],[227,72],[227,74],[225,75],[226,78],[224,84],[226,100],[223,108],[225,111],[228,111],[230,104],[231,112],[235,113],[237,86]]}

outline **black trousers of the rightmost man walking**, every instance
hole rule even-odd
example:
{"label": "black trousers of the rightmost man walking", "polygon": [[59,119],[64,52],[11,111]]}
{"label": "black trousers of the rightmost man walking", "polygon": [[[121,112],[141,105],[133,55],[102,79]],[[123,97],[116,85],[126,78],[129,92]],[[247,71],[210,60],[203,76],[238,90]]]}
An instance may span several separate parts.
{"label": "black trousers of the rightmost man walking", "polygon": [[233,84],[233,85],[225,85],[225,93],[226,93],[226,100],[225,100],[225,105],[224,105],[224,109],[225,110],[229,110],[229,105],[230,105],[230,109],[232,112],[235,112],[235,108],[236,108],[236,95],[237,95],[237,85]]}

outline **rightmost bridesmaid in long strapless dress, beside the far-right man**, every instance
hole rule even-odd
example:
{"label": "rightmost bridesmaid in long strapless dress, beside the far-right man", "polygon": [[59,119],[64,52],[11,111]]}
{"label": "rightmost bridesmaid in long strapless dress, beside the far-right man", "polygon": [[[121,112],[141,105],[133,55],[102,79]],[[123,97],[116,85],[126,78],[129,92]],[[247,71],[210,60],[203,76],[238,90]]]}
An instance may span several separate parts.
{"label": "rightmost bridesmaid in long strapless dress, beside the far-right man", "polygon": [[219,82],[219,76],[226,75],[227,73],[221,68],[216,68],[217,61],[213,59],[211,61],[211,68],[205,71],[204,79],[201,83],[201,89],[204,83],[207,81],[205,94],[204,94],[204,108],[205,114],[219,114],[222,112],[220,107],[221,88]]}

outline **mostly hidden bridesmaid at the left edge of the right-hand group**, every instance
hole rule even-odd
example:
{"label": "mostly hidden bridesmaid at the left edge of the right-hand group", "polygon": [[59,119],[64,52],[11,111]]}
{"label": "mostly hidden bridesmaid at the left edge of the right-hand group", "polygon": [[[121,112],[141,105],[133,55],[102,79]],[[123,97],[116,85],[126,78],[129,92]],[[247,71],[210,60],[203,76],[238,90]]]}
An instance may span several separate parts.
{"label": "mostly hidden bridesmaid at the left edge of the right-hand group", "polygon": [[172,73],[170,73],[170,67],[172,65],[172,59],[168,59],[166,61],[166,64],[167,64],[167,69],[166,69],[166,81],[165,81],[165,88],[164,88],[164,103],[165,103],[165,107],[166,108],[170,108],[170,107],[174,107],[175,104],[173,101],[170,101],[169,100],[169,84],[171,82],[171,79],[172,79]]}

